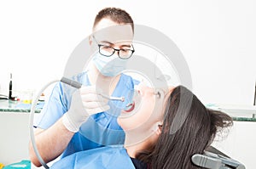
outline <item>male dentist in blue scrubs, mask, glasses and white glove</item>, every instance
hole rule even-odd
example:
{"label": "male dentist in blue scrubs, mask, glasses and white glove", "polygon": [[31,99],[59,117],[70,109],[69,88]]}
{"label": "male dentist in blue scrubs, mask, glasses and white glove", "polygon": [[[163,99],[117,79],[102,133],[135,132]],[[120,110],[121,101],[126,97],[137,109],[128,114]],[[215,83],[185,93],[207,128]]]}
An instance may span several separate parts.
{"label": "male dentist in blue scrubs, mask, glasses and white glove", "polygon": [[[60,155],[63,158],[87,149],[124,144],[125,132],[117,116],[128,100],[108,100],[96,91],[100,88],[101,93],[129,98],[138,82],[121,71],[135,52],[133,34],[133,20],[125,10],[103,8],[96,15],[89,43],[97,52],[90,68],[73,76],[83,87],[56,84],[41,119],[34,124],[36,144],[45,163]],[[41,166],[31,143],[29,155],[35,166]]]}

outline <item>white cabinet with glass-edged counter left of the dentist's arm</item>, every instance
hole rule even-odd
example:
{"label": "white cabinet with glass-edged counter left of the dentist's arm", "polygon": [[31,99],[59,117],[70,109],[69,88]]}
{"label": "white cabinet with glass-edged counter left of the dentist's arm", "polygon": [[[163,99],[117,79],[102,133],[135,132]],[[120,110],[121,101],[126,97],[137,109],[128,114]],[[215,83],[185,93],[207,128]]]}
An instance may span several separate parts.
{"label": "white cabinet with glass-edged counter left of the dentist's arm", "polygon": [[[31,104],[0,100],[0,163],[5,166],[28,160],[29,115]],[[35,118],[40,112],[36,110]]]}

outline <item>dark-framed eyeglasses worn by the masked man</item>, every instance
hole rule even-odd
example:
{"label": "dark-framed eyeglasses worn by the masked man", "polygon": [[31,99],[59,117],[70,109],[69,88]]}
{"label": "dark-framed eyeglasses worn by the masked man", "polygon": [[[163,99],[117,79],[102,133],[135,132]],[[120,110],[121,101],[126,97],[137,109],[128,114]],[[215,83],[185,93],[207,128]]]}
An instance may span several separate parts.
{"label": "dark-framed eyeglasses worn by the masked man", "polygon": [[131,55],[135,52],[132,44],[131,44],[132,49],[125,49],[125,48],[117,49],[117,48],[109,47],[108,45],[99,44],[96,41],[96,38],[94,36],[92,37],[99,47],[99,53],[102,54],[103,56],[110,57],[115,53],[115,51],[117,51],[120,59],[129,59],[131,58]]}

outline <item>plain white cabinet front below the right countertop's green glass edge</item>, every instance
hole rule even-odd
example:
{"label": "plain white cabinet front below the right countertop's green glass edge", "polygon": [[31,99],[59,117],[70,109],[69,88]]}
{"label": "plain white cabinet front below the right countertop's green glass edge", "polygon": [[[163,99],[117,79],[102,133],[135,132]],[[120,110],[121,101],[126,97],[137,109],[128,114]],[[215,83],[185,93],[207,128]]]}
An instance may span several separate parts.
{"label": "plain white cabinet front below the right countertop's green glass edge", "polygon": [[236,161],[240,161],[247,169],[255,168],[255,143],[256,137],[252,133],[256,131],[255,122],[235,121],[229,134],[222,133],[220,138],[212,145],[229,155]]}

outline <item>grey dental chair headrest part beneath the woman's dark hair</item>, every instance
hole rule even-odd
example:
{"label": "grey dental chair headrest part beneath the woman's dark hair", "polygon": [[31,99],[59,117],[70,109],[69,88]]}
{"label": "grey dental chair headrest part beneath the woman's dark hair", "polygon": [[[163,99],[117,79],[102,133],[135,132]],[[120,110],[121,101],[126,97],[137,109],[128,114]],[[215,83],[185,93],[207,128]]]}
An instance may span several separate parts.
{"label": "grey dental chair headrest part beneath the woman's dark hair", "polygon": [[195,154],[191,157],[192,162],[196,166],[210,169],[245,169],[246,167],[240,162],[231,159],[228,155],[224,155],[218,149],[210,146],[205,150],[203,155]]}

